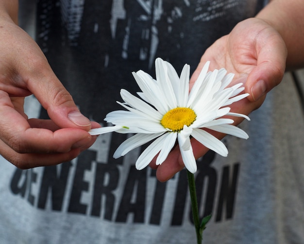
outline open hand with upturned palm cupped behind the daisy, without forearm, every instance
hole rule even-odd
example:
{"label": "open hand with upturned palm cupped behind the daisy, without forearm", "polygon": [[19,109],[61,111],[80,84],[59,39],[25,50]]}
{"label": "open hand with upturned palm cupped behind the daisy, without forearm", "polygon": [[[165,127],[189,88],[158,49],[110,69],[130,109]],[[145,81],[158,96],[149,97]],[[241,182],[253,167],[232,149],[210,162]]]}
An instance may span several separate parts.
{"label": "open hand with upturned palm cupped behind the daisy, without forearm", "polygon": [[[230,105],[231,112],[250,114],[261,106],[267,92],[282,81],[286,58],[287,49],[278,32],[261,19],[246,19],[205,51],[191,77],[190,87],[196,81],[205,62],[211,61],[210,70],[224,67],[228,72],[235,74],[231,85],[243,82],[244,92],[250,94],[247,98]],[[243,120],[240,117],[232,119],[235,121],[234,125]],[[219,139],[224,137],[222,133],[210,130],[209,132]],[[208,148],[193,138],[191,144],[196,159],[208,151]],[[176,146],[161,165],[157,166],[153,160],[150,166],[157,169],[158,180],[170,179],[184,168],[179,147]]]}

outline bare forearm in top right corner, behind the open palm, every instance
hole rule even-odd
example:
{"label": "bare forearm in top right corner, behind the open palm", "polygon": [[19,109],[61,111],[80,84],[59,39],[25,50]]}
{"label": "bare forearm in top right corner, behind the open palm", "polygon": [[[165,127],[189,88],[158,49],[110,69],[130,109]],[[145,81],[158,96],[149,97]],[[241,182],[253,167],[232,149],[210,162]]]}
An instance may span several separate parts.
{"label": "bare forearm in top right corner, behind the open palm", "polygon": [[287,69],[304,66],[304,1],[272,0],[256,17],[277,30],[287,46]]}

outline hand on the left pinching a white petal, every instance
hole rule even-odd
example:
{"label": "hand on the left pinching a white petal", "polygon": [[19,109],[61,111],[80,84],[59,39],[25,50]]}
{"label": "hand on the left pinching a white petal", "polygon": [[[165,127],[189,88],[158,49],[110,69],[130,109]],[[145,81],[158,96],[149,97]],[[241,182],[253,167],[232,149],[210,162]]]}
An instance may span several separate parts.
{"label": "hand on the left pinching a white petal", "polygon": [[[51,120],[28,119],[34,94]],[[9,17],[0,17],[0,154],[19,168],[67,162],[91,146],[100,127],[80,114],[41,49]]]}

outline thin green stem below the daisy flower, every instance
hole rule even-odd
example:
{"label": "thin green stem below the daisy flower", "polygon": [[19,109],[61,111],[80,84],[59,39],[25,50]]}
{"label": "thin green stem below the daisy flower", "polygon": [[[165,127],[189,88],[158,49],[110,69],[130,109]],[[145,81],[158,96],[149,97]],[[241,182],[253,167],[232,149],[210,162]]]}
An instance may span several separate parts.
{"label": "thin green stem below the daisy flower", "polygon": [[192,174],[187,170],[187,178],[188,178],[188,186],[189,186],[189,192],[191,198],[193,221],[196,231],[196,240],[197,240],[197,244],[202,244],[203,230],[201,229],[201,224],[200,224],[200,215],[199,215],[199,207],[197,204],[194,174]]}

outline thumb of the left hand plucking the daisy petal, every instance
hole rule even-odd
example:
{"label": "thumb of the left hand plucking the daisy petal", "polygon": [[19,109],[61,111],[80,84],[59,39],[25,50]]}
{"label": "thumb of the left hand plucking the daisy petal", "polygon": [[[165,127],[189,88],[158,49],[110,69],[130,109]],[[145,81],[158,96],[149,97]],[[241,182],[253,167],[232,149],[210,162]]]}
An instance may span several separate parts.
{"label": "thumb of the left hand plucking the daisy petal", "polygon": [[[33,44],[34,45],[34,44]],[[27,63],[18,62],[19,86],[31,91],[60,128],[90,130],[91,123],[80,113],[72,96],[58,80],[42,51],[37,47],[27,53]]]}

